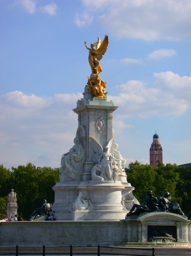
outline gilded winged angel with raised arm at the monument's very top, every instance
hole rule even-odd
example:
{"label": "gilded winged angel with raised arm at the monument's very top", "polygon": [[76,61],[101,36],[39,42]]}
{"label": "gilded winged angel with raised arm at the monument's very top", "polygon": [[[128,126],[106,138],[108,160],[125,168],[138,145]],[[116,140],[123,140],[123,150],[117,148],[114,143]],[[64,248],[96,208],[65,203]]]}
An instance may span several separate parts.
{"label": "gilded winged angel with raised arm at the monument's very top", "polygon": [[[99,74],[102,72],[99,61],[102,59],[105,54],[108,46],[108,36],[105,35],[103,42],[101,43],[101,38],[98,37],[97,43],[91,43],[91,48],[88,48],[86,41],[84,42],[86,48],[89,50],[89,63],[91,67],[91,72],[93,74]],[[96,46],[96,49],[94,48]]]}

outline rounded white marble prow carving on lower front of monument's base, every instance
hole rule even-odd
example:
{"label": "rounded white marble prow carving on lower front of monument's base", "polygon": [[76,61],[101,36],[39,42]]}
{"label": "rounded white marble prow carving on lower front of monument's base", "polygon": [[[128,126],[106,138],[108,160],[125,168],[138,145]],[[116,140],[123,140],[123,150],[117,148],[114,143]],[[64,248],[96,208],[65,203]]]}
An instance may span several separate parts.
{"label": "rounded white marble prow carving on lower front of monument's base", "polygon": [[71,207],[74,211],[92,210],[93,208],[89,197],[86,197],[86,199],[82,199],[81,191],[79,191],[78,197],[74,200]]}

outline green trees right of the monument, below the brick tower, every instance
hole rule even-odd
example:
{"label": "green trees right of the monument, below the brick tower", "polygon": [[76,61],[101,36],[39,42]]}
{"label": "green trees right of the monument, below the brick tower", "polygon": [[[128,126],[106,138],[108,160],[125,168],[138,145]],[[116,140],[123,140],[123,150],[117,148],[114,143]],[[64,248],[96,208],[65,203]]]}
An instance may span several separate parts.
{"label": "green trees right of the monument, below the brick tower", "polygon": [[159,163],[153,168],[136,161],[130,163],[125,172],[128,183],[135,187],[133,194],[140,203],[147,197],[148,190],[159,198],[167,189],[171,193],[171,201],[177,201],[182,211],[191,218],[191,165],[178,167],[176,164]]}

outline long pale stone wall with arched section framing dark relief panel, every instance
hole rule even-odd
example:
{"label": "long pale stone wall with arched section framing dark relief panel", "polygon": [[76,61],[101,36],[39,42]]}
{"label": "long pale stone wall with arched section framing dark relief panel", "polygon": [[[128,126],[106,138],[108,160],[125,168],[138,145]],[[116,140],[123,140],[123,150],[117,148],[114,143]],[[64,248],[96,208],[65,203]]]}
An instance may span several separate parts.
{"label": "long pale stone wall with arched section framing dark relief panel", "polygon": [[[191,243],[190,220],[174,213],[150,213],[134,220],[122,221],[0,222],[0,245],[126,246],[139,243],[139,246],[152,246],[147,240],[147,227],[157,225],[176,227],[177,241],[173,242],[176,246],[188,246]],[[165,246],[165,243],[155,243],[155,246],[157,244]]]}

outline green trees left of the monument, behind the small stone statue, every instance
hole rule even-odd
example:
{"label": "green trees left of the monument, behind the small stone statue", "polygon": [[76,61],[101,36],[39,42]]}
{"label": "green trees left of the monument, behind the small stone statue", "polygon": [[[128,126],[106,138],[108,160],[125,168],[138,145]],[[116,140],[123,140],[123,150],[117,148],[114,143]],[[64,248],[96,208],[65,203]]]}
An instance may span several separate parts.
{"label": "green trees left of the monument, behind the small stone statue", "polygon": [[31,163],[20,165],[12,170],[0,165],[0,213],[7,213],[7,194],[11,188],[17,194],[18,214],[26,219],[33,210],[41,207],[44,199],[54,202],[52,187],[59,181],[59,168],[37,167]]}

